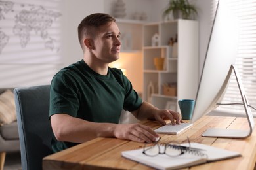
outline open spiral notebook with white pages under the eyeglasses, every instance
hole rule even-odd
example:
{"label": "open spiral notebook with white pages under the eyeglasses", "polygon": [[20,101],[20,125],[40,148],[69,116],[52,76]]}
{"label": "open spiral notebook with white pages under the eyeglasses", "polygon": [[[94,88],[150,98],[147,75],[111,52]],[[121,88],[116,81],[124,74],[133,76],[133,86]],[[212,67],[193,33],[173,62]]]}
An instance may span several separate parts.
{"label": "open spiral notebook with white pages under the eyeglasses", "polygon": [[[208,146],[200,143],[190,143],[191,148],[199,149],[204,155],[197,152],[186,152],[181,156],[169,157],[165,154],[158,154],[158,156],[146,156],[143,154],[143,148],[137,150],[124,151],[121,155],[130,160],[137,161],[144,165],[154,167],[155,169],[181,169],[185,167],[192,167],[202,163],[211,161],[219,161],[228,158],[234,158],[241,156],[239,152],[233,152],[230,150],[224,150],[213,146]],[[188,143],[181,144],[181,146],[188,146]]]}

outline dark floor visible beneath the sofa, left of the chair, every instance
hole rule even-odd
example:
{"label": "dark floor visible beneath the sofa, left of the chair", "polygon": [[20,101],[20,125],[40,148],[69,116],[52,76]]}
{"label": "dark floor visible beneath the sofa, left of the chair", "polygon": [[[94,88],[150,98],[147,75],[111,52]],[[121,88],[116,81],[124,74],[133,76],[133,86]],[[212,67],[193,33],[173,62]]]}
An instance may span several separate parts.
{"label": "dark floor visible beneath the sofa, left of the chair", "polygon": [[20,152],[8,153],[5,156],[3,170],[21,170]]}

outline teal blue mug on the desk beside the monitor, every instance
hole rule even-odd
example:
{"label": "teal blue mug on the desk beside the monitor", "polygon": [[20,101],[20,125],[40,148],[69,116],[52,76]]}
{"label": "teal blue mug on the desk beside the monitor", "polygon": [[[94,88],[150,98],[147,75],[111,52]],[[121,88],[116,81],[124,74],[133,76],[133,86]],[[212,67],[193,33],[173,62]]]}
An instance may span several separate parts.
{"label": "teal blue mug on the desk beside the monitor", "polygon": [[182,120],[190,120],[194,111],[195,100],[182,99],[178,101]]}

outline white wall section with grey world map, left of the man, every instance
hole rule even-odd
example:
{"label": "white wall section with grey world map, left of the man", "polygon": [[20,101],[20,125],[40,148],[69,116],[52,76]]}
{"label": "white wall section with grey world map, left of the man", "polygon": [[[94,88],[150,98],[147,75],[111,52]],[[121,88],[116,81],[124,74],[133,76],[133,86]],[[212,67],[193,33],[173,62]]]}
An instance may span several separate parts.
{"label": "white wall section with grey world map, left of the man", "polygon": [[[58,53],[61,36],[59,31],[56,31],[61,26],[61,17],[58,16],[58,14],[61,14],[59,8],[61,2],[41,0],[12,0],[6,2],[12,4],[1,5],[0,88],[49,84],[51,77],[62,63]],[[30,10],[31,12],[22,15],[24,14],[22,13],[23,10]],[[37,11],[37,15],[33,14],[32,10],[33,12]],[[40,20],[40,14],[44,13],[49,15],[45,15],[45,20]],[[30,23],[23,22],[22,16],[26,16]],[[49,22],[49,18],[53,22]],[[33,29],[28,29],[28,24],[33,21],[36,21],[36,24],[30,25]],[[47,24],[51,27],[47,27]],[[17,27],[19,29],[15,29]],[[39,30],[39,27],[44,29]],[[3,41],[3,35],[5,35],[7,41]],[[2,46],[5,44],[4,42],[7,42],[7,44]],[[50,47],[49,42],[52,42],[53,46],[51,47],[53,48],[45,46]]]}

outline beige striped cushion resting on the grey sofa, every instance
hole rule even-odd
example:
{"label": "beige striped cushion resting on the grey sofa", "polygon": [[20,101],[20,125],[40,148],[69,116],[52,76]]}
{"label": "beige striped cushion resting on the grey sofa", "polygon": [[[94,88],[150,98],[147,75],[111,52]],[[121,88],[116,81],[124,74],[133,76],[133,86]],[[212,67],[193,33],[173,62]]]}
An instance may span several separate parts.
{"label": "beige striped cushion resting on the grey sofa", "polygon": [[0,94],[0,126],[10,124],[16,120],[14,94],[11,90],[5,90]]}

